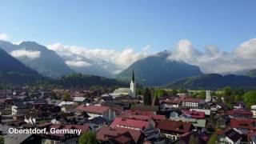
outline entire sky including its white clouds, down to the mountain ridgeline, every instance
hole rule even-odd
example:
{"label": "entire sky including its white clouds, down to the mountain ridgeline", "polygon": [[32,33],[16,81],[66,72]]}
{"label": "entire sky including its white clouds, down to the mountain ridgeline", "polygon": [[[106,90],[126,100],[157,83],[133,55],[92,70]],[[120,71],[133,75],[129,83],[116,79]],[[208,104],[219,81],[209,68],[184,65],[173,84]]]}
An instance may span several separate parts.
{"label": "entire sky including its white clouds, down to the mountain ridgeline", "polygon": [[[255,6],[254,0],[1,0],[0,39],[112,57],[122,68],[172,50],[170,59],[225,73],[256,67],[250,62],[256,60]],[[225,65],[216,69],[219,63]]]}

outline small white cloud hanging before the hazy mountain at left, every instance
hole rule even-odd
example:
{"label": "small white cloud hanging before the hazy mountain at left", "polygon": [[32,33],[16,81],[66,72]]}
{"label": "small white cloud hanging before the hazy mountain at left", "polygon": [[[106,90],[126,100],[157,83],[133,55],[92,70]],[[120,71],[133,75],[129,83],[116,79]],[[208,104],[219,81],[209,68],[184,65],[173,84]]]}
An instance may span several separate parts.
{"label": "small white cloud hanging before the hazy mountain at left", "polygon": [[14,50],[10,54],[14,58],[26,57],[30,59],[35,59],[35,58],[41,57],[41,51],[36,51],[36,50],[32,51],[32,50],[26,50],[26,49]]}

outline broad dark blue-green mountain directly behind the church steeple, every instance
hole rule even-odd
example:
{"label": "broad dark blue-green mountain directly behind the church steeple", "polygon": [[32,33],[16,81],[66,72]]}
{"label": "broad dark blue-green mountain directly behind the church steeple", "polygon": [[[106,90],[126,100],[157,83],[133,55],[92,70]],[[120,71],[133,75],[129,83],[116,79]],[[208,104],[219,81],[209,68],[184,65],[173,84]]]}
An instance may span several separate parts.
{"label": "broad dark blue-green mountain directly behind the church steeple", "polygon": [[147,58],[134,62],[126,70],[123,70],[116,78],[127,81],[134,70],[137,82],[145,86],[166,86],[179,78],[200,75],[198,66],[192,66],[185,62],[170,61],[169,51],[163,51]]}

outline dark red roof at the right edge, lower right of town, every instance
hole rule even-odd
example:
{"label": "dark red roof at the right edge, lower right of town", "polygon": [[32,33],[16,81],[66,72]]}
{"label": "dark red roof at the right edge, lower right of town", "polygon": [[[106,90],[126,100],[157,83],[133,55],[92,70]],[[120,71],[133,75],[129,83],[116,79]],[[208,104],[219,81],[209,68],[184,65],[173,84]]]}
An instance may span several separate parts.
{"label": "dark red roof at the right edge, lower right of town", "polygon": [[230,119],[230,126],[232,128],[244,128],[249,130],[256,130],[256,127],[254,127],[254,120],[252,119]]}

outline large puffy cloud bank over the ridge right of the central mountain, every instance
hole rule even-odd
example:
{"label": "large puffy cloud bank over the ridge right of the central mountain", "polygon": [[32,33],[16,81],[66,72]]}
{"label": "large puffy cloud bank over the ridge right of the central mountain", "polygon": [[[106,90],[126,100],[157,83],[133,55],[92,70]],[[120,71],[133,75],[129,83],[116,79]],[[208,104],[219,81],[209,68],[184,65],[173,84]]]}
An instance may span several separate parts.
{"label": "large puffy cloud bank over the ridge right of the central mountain", "polygon": [[217,46],[206,46],[205,52],[194,48],[190,40],[183,39],[174,46],[169,60],[178,60],[199,66],[204,73],[236,73],[256,68],[256,38],[243,42],[230,53]]}

